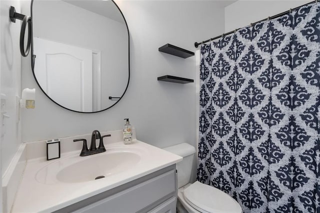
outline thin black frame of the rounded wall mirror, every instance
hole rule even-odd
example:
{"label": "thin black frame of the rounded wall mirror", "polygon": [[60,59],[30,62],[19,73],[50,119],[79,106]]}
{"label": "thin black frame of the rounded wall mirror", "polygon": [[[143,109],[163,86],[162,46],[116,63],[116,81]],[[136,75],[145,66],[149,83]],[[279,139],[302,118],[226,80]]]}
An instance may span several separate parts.
{"label": "thin black frame of the rounded wall mirror", "polygon": [[[42,89],[42,87],[40,86],[39,82],[37,81],[36,77],[35,77],[35,74],[34,74],[34,63],[35,63],[35,56],[33,54],[33,21],[31,22],[31,69],[32,69],[32,74],[33,74],[33,77],[34,77],[34,80],[36,81],[37,85],[39,86],[39,88],[41,89],[41,91],[45,94],[45,96],[47,96],[52,102],[54,102],[55,104],[61,106],[62,108],[65,108],[69,111],[74,111],[74,112],[80,112],[80,113],[96,113],[96,112],[100,112],[100,111],[104,111],[106,109],[109,109],[111,108],[112,106],[114,106],[116,103],[118,103],[120,101],[120,99],[123,97],[123,95],[125,94],[127,88],[128,88],[128,85],[129,85],[129,81],[130,81],[130,35],[129,35],[129,28],[128,28],[128,25],[127,25],[127,22],[124,18],[124,15],[121,11],[121,9],[118,7],[118,5],[114,2],[114,0],[111,0],[114,5],[118,8],[119,12],[121,13],[122,17],[123,17],[123,20],[125,22],[125,26],[126,26],[126,30],[127,30],[127,33],[128,33],[128,82],[126,84],[126,87],[123,91],[123,94],[119,97],[119,99],[114,103],[112,104],[111,106],[105,108],[105,109],[102,109],[102,110],[99,110],[99,111],[76,111],[76,110],[73,110],[73,109],[69,109],[69,108],[66,108],[62,105],[60,105],[59,103],[55,102],[51,97],[49,97],[49,95],[47,95],[44,90]],[[33,5],[33,0],[31,0],[31,4],[30,4],[30,15],[32,17],[32,5]]]}

